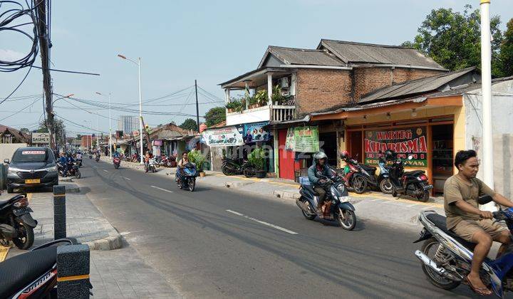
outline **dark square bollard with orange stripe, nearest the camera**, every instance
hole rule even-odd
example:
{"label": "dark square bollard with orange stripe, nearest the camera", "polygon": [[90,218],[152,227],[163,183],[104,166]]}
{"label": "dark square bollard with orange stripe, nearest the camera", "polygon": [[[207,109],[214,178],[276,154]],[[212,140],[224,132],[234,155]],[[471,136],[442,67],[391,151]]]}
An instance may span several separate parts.
{"label": "dark square bollard with orange stripe, nearest the camera", "polygon": [[57,247],[57,298],[89,298],[89,246]]}

